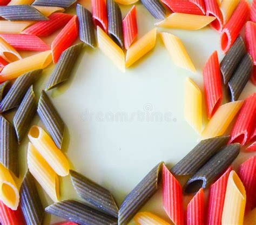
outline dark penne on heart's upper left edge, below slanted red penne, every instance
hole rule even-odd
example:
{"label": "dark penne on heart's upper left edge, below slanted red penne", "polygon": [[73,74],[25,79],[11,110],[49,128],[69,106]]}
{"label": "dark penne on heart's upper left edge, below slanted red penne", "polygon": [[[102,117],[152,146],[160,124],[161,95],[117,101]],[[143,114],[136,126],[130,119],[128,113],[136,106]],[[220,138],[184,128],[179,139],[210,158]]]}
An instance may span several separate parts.
{"label": "dark penne on heart's upper left edge, below slanted red penne", "polygon": [[56,87],[60,83],[68,80],[72,72],[75,62],[83,48],[83,44],[76,44],[66,49],[60,55],[58,63],[53,70],[51,77],[46,85],[45,90],[48,91],[53,87]]}

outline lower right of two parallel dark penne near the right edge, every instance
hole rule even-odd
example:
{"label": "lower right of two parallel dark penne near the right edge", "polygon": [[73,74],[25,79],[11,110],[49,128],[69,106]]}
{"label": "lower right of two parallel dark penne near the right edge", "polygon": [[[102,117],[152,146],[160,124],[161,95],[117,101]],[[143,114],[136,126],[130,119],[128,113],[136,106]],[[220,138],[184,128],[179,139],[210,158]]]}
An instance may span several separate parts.
{"label": "lower right of two parallel dark penne near the right edge", "polygon": [[253,60],[249,53],[246,53],[235,70],[230,81],[228,81],[228,88],[230,89],[231,101],[237,101],[242,90],[251,77],[253,70]]}

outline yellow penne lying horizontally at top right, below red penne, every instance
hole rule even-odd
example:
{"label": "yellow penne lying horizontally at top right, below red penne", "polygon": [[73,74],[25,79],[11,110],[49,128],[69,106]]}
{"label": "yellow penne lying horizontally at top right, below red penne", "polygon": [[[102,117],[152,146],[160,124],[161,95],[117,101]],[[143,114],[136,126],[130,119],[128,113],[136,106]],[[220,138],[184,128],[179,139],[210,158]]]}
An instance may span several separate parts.
{"label": "yellow penne lying horizontally at top right, below red penne", "polygon": [[162,28],[176,28],[184,30],[199,30],[216,19],[213,16],[201,16],[187,13],[174,12],[169,17],[156,23]]}

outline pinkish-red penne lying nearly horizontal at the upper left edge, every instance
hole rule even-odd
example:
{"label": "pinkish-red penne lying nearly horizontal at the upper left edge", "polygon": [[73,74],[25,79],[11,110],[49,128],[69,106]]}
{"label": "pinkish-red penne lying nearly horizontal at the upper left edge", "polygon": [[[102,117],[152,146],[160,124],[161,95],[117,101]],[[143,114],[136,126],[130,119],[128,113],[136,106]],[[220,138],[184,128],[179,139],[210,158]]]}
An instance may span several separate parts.
{"label": "pinkish-red penne lying nearly horizontal at the upper left edge", "polygon": [[9,43],[16,50],[26,51],[46,51],[50,50],[50,47],[46,45],[43,40],[35,35],[0,35],[5,42]]}

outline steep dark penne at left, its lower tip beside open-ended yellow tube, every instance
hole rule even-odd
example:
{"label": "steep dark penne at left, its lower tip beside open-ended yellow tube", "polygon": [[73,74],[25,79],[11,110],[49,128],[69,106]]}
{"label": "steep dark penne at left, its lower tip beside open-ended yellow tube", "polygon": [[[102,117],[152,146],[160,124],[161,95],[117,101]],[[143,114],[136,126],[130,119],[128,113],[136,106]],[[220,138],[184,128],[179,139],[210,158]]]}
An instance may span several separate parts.
{"label": "steep dark penne at left, its lower tip beside open-ended yellow tube", "polygon": [[21,105],[19,105],[14,116],[14,127],[16,130],[18,144],[28,132],[30,122],[36,114],[36,97],[31,85],[26,92]]}

